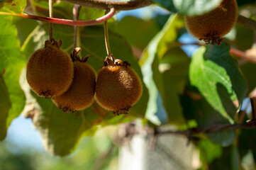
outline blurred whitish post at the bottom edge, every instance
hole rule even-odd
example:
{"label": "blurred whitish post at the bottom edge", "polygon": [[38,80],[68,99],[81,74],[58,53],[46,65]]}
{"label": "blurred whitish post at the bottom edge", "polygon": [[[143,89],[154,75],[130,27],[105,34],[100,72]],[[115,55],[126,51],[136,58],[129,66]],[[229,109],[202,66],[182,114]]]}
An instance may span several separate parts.
{"label": "blurred whitish post at the bottom edge", "polygon": [[190,170],[199,162],[193,159],[194,153],[198,153],[195,151],[193,144],[187,146],[187,137],[183,135],[158,135],[155,148],[150,148],[148,135],[136,134],[128,145],[120,147],[118,169]]}

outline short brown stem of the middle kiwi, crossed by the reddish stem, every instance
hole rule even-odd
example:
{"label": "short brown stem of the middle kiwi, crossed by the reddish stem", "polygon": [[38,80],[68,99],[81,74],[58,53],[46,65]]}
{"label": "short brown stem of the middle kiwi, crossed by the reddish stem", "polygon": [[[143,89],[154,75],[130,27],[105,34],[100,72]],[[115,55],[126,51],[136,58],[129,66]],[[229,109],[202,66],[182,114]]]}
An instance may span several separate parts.
{"label": "short brown stem of the middle kiwi, crossed by the reddish stem", "polygon": [[[80,16],[80,10],[81,10],[82,6],[79,6],[77,4],[74,4],[74,8],[73,8],[73,17],[74,17],[74,21],[78,21],[79,20],[79,16]],[[80,38],[80,30],[78,26],[74,26],[74,48],[77,47],[77,45],[79,46],[79,40]]]}

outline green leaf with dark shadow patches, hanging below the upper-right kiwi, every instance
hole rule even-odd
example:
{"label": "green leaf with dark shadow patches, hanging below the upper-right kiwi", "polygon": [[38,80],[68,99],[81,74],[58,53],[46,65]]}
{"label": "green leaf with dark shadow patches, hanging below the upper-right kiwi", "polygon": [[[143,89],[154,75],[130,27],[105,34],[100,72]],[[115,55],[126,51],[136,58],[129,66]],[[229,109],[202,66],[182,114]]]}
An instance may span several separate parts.
{"label": "green leaf with dark shadow patches, hanging below the upper-right kiwi", "polygon": [[224,42],[219,46],[200,47],[192,57],[189,79],[206,101],[233,123],[233,116],[247,93],[247,82],[229,50]]}

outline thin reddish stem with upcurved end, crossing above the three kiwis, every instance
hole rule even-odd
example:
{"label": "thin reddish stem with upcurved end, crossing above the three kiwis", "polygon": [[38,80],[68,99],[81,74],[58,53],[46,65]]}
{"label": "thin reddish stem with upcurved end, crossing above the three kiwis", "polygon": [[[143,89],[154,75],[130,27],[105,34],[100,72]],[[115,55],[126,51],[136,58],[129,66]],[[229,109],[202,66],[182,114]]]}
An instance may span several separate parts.
{"label": "thin reddish stem with upcurved end, crossing above the three kiwis", "polygon": [[58,24],[67,25],[67,26],[93,26],[93,25],[96,25],[99,23],[104,23],[108,19],[112,18],[115,14],[116,14],[115,9],[111,8],[110,12],[107,13],[105,16],[102,16],[101,18],[96,18],[95,20],[90,20],[90,21],[74,21],[74,20],[67,20],[67,19],[60,19],[60,18],[34,16],[34,15],[28,15],[26,13],[0,12],[0,15],[18,16],[21,18],[33,19],[33,20],[38,20],[38,21],[46,21],[48,23],[58,23]]}

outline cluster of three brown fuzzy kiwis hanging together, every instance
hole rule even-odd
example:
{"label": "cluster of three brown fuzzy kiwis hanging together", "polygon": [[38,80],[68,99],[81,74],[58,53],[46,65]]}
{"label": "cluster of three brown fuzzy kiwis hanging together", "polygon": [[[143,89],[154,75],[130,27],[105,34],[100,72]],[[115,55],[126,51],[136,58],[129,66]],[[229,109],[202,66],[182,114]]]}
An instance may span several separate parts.
{"label": "cluster of three brown fuzzy kiwis hanging together", "polygon": [[83,110],[95,98],[106,110],[126,114],[140,99],[141,81],[128,62],[108,56],[96,78],[87,64],[89,56],[79,57],[81,48],[69,55],[61,44],[61,40],[47,40],[30,56],[26,77],[35,94],[52,99],[65,113]]}

